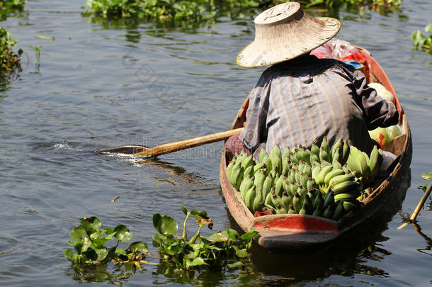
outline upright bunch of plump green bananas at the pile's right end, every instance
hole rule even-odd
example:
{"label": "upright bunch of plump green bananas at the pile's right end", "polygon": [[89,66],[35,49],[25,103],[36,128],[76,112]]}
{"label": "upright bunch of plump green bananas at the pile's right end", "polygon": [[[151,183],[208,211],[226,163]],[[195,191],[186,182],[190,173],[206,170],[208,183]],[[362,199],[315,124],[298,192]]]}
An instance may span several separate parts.
{"label": "upright bunch of plump green bananas at the pile's right end", "polygon": [[380,170],[382,159],[382,150],[377,149],[376,146],[370,152],[370,157],[352,146],[346,165],[351,171],[356,171],[356,176],[363,179],[363,184],[368,184],[374,180],[375,175]]}

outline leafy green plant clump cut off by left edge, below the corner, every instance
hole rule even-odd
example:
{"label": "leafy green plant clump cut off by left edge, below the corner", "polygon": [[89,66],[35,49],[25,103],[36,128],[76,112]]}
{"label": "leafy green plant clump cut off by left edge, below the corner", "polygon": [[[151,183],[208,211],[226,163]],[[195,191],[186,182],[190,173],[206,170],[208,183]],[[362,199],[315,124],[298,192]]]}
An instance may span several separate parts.
{"label": "leafy green plant clump cut off by left edge, below the corner", "polygon": [[18,50],[16,55],[12,48],[16,40],[5,27],[0,27],[0,78],[6,77],[7,74],[21,71],[20,55],[23,50]]}

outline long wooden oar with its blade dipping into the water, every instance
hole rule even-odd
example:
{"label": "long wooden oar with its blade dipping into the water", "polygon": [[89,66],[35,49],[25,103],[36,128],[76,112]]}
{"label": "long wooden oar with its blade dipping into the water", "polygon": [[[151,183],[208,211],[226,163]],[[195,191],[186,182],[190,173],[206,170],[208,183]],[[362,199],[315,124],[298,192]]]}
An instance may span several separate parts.
{"label": "long wooden oar with its blade dipping into the water", "polygon": [[151,148],[144,147],[142,145],[122,145],[121,147],[112,147],[109,149],[100,150],[99,153],[132,154],[134,157],[156,157],[161,154],[176,152],[178,150],[186,150],[190,147],[196,147],[198,145],[205,145],[211,142],[227,140],[228,137],[239,134],[243,129],[244,128],[236,128],[234,130],[227,130],[221,133],[205,135],[203,137],[181,140],[180,142],[170,142],[164,145],[157,145],[156,147]]}

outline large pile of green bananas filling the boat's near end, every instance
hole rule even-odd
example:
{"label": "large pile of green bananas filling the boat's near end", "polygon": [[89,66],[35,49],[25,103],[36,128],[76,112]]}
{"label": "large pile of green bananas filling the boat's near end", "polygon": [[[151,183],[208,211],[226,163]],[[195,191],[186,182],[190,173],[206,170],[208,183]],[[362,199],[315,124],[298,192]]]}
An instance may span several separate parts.
{"label": "large pile of green bananas filling the boat's near end", "polygon": [[[360,206],[357,199],[364,194],[360,193],[361,177],[356,178],[357,171],[351,173],[353,169],[345,165],[352,162],[351,154],[356,154],[356,148],[351,148],[346,140],[339,140],[330,148],[324,137],[320,147],[312,143],[311,150],[297,146],[281,152],[275,145],[269,154],[261,150],[259,160],[241,152],[228,164],[227,173],[252,213],[271,210],[275,214],[339,220]],[[380,152],[376,150],[374,154],[374,164],[366,161],[368,174],[376,173],[376,166],[380,165]]]}

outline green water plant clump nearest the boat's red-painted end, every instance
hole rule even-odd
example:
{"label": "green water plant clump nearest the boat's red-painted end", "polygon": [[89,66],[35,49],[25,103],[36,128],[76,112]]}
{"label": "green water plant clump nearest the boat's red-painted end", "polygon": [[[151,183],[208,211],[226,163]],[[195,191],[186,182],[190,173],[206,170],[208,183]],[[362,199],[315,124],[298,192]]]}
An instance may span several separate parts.
{"label": "green water plant clump nearest the boat's red-painted end", "polygon": [[[217,231],[209,237],[200,235],[204,225],[212,228],[212,220],[205,211],[187,210],[182,206],[186,219],[183,222],[181,237],[177,235],[178,225],[174,218],[159,213],[153,215],[153,225],[159,234],[153,236],[154,247],[159,247],[159,254],[170,261],[179,270],[191,270],[199,266],[241,266],[240,258],[247,256],[254,238],[255,231],[239,235],[229,229]],[[198,223],[198,231],[188,239],[186,223],[193,215]]]}

